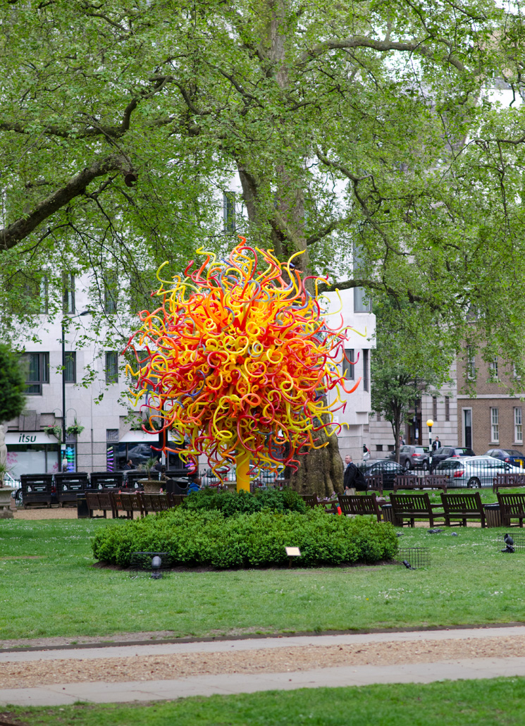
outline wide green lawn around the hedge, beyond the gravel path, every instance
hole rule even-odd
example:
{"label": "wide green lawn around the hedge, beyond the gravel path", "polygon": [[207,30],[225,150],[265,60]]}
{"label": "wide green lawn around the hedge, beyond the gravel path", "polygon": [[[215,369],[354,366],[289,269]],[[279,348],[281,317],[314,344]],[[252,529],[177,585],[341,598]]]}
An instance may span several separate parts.
{"label": "wide green lawn around the hedge, beyond the gravel path", "polygon": [[[96,520],[0,521],[0,640],[63,635],[118,639],[525,621],[525,551],[502,554],[503,530],[404,529],[431,566],[175,572],[129,579],[94,568]],[[114,526],[114,525],[113,525]],[[117,524],[116,526],[122,526]],[[452,536],[457,532],[457,537]],[[513,534],[520,535],[519,529]],[[35,559],[32,559],[35,558]]]}

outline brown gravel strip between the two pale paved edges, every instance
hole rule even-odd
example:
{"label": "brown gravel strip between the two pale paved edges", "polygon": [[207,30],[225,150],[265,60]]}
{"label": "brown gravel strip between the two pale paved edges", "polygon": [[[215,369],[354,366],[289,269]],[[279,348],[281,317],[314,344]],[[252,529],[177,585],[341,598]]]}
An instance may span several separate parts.
{"label": "brown gravel strip between the two pale paved edges", "polygon": [[[28,663],[3,660],[0,688],[73,682],[168,680],[204,674],[269,673],[359,665],[433,663],[465,658],[523,656],[525,635],[457,637],[414,642],[355,643],[264,648],[242,652],[193,652],[126,658],[64,658]],[[132,651],[132,649],[131,649]],[[94,654],[95,655],[95,654]],[[4,658],[9,658],[5,653]]]}

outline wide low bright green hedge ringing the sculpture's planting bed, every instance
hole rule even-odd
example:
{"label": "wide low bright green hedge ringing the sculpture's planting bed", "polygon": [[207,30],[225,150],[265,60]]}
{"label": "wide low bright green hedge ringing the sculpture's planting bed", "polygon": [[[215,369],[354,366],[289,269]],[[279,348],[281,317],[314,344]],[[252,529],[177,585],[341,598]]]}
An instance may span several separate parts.
{"label": "wide low bright green hedge ringing the sculpture's planting bed", "polygon": [[327,515],[321,507],[231,517],[177,507],[108,524],[92,541],[95,559],[123,567],[131,552],[169,552],[174,566],[270,567],[288,563],[285,546],[299,547],[297,563],[312,567],[391,559],[398,539],[390,523]]}

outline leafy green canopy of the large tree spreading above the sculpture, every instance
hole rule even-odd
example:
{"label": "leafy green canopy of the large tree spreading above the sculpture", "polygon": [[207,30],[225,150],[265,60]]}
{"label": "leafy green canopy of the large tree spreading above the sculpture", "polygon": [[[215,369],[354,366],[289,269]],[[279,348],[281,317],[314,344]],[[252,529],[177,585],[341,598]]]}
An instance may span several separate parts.
{"label": "leafy green canopy of the large tree spreading above the sculpture", "polygon": [[524,114],[487,83],[519,96],[523,34],[492,0],[0,0],[9,309],[42,269],[102,298],[116,268],[140,286],[230,245],[237,174],[252,242],[434,310],[457,345],[474,305],[518,358]]}

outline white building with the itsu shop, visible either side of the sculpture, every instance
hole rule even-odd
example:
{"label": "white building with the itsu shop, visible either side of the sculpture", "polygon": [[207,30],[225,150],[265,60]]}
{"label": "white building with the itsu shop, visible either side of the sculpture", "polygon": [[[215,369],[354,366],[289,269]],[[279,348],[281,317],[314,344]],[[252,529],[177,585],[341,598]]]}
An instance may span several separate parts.
{"label": "white building with the itsu shop, visible either side of the sculpture", "polygon": [[[23,415],[5,425],[8,463],[14,478],[24,473],[59,471],[64,457],[68,459],[69,470],[91,472],[121,468],[129,458],[137,465],[159,455],[155,451],[156,436],[131,429],[131,402],[123,396],[128,383],[123,375],[121,338],[114,346],[105,348],[92,342],[84,346],[84,326],[89,327],[91,320],[91,316],[81,315],[89,308],[88,285],[77,280],[73,287],[74,281],[70,282],[68,313],[64,316],[70,318],[65,326],[65,405],[62,405],[61,323],[51,322],[46,314],[36,315],[31,337],[27,335],[18,341],[18,347],[25,349],[28,395]],[[367,439],[372,345],[369,339],[375,333],[375,316],[368,303],[363,303],[360,290],[343,290],[340,294],[343,325],[354,328],[349,331],[346,354],[357,361],[355,366],[346,367],[347,375],[349,383],[359,378],[361,381],[357,391],[348,396],[346,411],[336,416],[342,426],[341,454],[359,457]],[[328,296],[330,309],[338,310],[341,305],[337,295]],[[112,304],[115,305],[114,300]],[[341,318],[329,322],[336,327]],[[40,339],[38,344],[31,342],[35,335]],[[89,368],[94,375],[92,380],[83,383]],[[82,431],[66,436],[61,450],[59,439],[49,433],[49,428],[62,428],[63,409],[66,429],[78,425]],[[178,457],[170,454],[169,468],[178,467]]]}

